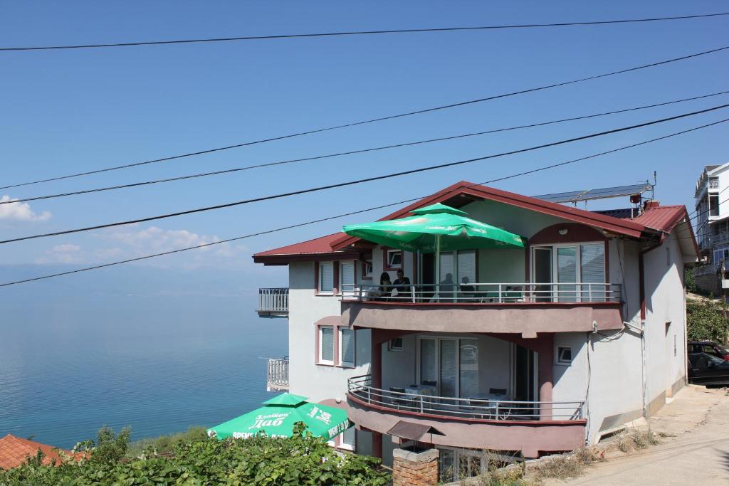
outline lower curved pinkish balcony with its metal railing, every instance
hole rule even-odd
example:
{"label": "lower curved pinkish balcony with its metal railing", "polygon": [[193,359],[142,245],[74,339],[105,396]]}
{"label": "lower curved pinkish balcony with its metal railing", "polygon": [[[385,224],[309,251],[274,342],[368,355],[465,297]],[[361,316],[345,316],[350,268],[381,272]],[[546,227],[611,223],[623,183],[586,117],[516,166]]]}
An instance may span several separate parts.
{"label": "lower curved pinkish balcony with its metal railing", "polygon": [[585,444],[584,401],[504,401],[483,396],[458,399],[393,392],[369,385],[369,375],[348,383],[349,418],[379,434],[399,421],[431,426],[420,442],[478,450],[542,452],[574,450]]}

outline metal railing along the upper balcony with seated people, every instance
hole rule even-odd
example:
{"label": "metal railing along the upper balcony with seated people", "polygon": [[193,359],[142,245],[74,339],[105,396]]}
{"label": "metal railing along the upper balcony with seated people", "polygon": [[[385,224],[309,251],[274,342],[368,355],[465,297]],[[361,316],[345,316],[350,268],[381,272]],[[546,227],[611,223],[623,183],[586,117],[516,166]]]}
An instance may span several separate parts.
{"label": "metal railing along the upper balcony with seated people", "polygon": [[360,302],[622,302],[620,283],[426,283],[343,285],[342,300]]}

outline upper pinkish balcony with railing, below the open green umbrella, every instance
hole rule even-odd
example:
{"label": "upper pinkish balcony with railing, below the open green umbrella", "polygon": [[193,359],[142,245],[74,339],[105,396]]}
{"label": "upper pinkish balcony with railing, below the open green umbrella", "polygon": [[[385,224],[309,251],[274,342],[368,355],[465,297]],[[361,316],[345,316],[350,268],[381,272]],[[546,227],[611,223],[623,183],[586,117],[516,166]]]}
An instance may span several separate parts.
{"label": "upper pinkish balcony with railing, below the open green umbrella", "polygon": [[430,332],[621,329],[618,283],[462,283],[343,286],[343,324]]}

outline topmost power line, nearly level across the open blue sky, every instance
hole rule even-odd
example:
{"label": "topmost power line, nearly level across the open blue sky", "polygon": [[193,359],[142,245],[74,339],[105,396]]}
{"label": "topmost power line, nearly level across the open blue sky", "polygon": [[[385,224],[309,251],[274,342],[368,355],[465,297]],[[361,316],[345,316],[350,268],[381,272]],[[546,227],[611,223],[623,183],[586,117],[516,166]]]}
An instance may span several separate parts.
{"label": "topmost power line, nearly level across the open blue sky", "polygon": [[471,27],[435,27],[435,28],[399,28],[392,30],[377,31],[340,31],[323,32],[314,34],[278,34],[270,36],[239,36],[239,37],[210,37],[203,39],[177,39],[168,41],[142,41],[142,42],[114,42],[107,44],[71,44],[53,46],[32,46],[32,47],[0,47],[0,51],[36,51],[36,50],[69,50],[69,49],[97,49],[102,47],[139,47],[164,44],[202,44],[208,42],[241,42],[241,41],[262,41],[272,39],[305,39],[308,37],[341,37],[341,36],[364,36],[381,34],[419,34],[426,32],[456,32],[456,31],[494,31],[515,28],[546,28],[546,27],[571,27],[571,26],[600,26],[620,23],[644,23],[660,22],[666,20],[687,20],[708,17],[723,17],[729,12],[700,15],[681,15],[675,17],[649,17],[639,19],[622,20],[592,20],[588,22],[561,22],[561,23],[527,23],[510,24],[501,26],[471,26]]}

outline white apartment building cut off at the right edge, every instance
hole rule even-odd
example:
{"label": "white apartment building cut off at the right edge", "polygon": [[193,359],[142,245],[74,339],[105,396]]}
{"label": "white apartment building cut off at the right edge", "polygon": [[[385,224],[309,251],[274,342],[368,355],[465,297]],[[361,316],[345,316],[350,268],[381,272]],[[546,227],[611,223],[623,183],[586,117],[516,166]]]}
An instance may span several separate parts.
{"label": "white apartment building cut off at the right edge", "polygon": [[696,285],[722,294],[729,281],[722,284],[725,271],[729,271],[729,163],[706,165],[696,182],[695,228],[701,256],[706,265],[695,270]]}

